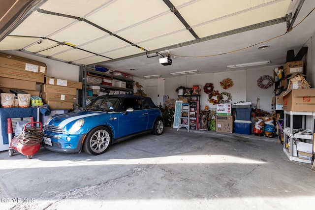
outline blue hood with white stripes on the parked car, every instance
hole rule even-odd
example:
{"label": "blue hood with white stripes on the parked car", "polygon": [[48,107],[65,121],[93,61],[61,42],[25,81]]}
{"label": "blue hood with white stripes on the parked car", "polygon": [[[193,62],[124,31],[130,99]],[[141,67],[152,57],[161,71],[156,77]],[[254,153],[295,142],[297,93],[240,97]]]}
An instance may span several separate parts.
{"label": "blue hood with white stripes on the parked car", "polygon": [[92,118],[93,116],[103,115],[104,112],[96,112],[96,111],[84,111],[84,112],[71,112],[62,115],[57,115],[49,120],[46,124],[55,125],[63,127],[64,125],[72,122],[74,120],[79,120],[81,118]]}

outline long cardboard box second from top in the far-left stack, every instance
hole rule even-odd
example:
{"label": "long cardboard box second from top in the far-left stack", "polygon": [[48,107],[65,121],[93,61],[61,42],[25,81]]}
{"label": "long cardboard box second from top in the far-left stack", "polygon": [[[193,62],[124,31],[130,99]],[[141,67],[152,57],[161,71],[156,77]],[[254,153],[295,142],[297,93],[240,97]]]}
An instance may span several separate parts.
{"label": "long cardboard box second from top in the far-left stack", "polygon": [[0,66],[0,77],[44,83],[44,75]]}

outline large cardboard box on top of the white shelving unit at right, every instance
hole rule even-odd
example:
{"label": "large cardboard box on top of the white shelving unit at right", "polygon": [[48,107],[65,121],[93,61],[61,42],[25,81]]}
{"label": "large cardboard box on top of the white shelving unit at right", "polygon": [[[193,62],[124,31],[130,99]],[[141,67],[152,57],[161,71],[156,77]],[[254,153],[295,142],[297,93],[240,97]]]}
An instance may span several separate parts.
{"label": "large cardboard box on top of the white shelving unit at right", "polygon": [[284,110],[315,112],[315,89],[288,89],[282,92]]}

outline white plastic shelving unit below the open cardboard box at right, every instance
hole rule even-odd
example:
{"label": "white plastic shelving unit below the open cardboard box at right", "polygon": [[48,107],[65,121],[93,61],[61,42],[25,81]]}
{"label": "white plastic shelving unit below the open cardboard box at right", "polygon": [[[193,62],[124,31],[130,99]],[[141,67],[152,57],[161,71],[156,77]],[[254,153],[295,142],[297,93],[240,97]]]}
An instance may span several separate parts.
{"label": "white plastic shelving unit below the open cardboard box at right", "polygon": [[[314,120],[315,120],[315,112],[299,112],[299,111],[284,111],[284,153],[289,158],[289,160],[303,162],[303,163],[312,163],[312,160],[306,160],[306,159],[300,159],[296,154],[293,154],[293,140],[296,139],[305,139],[309,140],[310,142],[313,141],[313,133],[314,130],[312,130],[311,134],[306,134],[303,132],[295,132],[293,129],[293,116],[294,115],[300,115],[302,116],[302,124],[301,128],[305,129],[305,117],[306,116],[313,116],[312,120],[312,128],[314,128]],[[290,124],[287,126],[288,117],[290,119]],[[285,129],[286,127],[289,127],[289,129]],[[288,147],[290,150],[286,149],[285,145],[288,143]]]}

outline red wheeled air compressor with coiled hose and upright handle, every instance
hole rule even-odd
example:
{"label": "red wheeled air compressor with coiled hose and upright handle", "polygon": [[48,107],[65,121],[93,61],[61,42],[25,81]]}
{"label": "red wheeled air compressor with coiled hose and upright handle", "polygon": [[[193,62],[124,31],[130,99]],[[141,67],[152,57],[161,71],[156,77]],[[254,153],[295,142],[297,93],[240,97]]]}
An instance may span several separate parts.
{"label": "red wheeled air compressor with coiled hose and upright handle", "polygon": [[[33,154],[35,154],[40,148],[40,143],[43,138],[42,123],[41,122],[26,123],[21,134],[12,139],[13,134],[12,122],[11,119],[7,120],[9,137],[9,156],[13,156],[14,151],[18,151],[21,154],[26,155],[28,159],[31,159]],[[39,127],[35,126],[37,123],[39,123],[40,125]]]}

